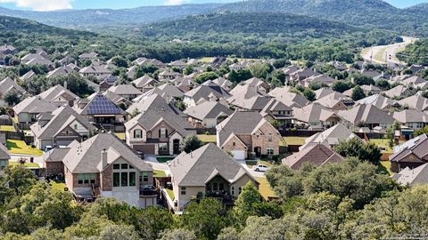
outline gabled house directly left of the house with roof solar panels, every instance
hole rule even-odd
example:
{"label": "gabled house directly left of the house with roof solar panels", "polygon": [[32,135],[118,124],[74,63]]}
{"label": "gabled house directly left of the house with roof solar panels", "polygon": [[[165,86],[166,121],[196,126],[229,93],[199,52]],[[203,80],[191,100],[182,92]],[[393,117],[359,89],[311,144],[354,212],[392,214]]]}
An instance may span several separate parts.
{"label": "gabled house directly left of the house with roof solar panels", "polygon": [[86,140],[95,127],[70,106],[64,105],[52,113],[39,115],[37,123],[32,124],[30,129],[34,135],[34,145],[45,149],[47,146],[68,146],[73,140]]}

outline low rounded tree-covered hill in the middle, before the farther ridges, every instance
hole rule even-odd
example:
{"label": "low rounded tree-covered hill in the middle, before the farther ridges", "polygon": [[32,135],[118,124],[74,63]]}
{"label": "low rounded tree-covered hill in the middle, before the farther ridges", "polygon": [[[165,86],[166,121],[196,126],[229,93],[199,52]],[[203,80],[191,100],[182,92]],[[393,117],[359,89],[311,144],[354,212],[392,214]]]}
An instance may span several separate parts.
{"label": "low rounded tree-covered hill in the middle, before the farther ridges", "polygon": [[183,20],[152,23],[144,36],[210,36],[213,33],[267,36],[338,36],[358,28],[312,17],[279,12],[223,12],[188,16]]}

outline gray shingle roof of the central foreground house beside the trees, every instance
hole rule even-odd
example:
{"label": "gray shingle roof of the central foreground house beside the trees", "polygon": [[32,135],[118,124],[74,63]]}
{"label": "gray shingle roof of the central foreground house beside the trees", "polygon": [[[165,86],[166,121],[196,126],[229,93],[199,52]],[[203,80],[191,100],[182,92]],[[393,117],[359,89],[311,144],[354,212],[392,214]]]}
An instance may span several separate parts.
{"label": "gray shingle roof of the central foreground house beside the trees", "polygon": [[169,163],[169,170],[178,186],[205,186],[217,175],[229,183],[234,183],[244,175],[257,182],[241,164],[213,143],[196,149],[192,153],[180,154]]}

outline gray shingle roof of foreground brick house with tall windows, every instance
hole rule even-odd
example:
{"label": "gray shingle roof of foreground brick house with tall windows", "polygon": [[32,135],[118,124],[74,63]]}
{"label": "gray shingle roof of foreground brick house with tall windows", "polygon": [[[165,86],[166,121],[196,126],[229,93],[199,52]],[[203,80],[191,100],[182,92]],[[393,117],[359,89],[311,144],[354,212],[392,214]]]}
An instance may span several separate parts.
{"label": "gray shingle roof of foreground brick house with tall windows", "polygon": [[103,149],[107,150],[109,164],[122,157],[139,171],[152,171],[152,166],[144,163],[132,148],[112,133],[99,133],[81,144],[73,144],[62,162],[72,173],[101,172]]}

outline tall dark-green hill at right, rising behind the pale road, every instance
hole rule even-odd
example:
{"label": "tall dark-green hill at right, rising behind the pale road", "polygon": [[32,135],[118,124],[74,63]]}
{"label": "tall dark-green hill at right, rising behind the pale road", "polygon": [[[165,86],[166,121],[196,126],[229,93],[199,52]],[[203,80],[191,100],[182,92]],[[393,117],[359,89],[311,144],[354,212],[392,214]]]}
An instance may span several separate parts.
{"label": "tall dark-green hill at right, rising behind the pale road", "polygon": [[[417,7],[416,7],[417,8]],[[225,4],[218,12],[290,12],[358,27],[397,29],[427,35],[428,9],[399,9],[382,0],[248,0]]]}

